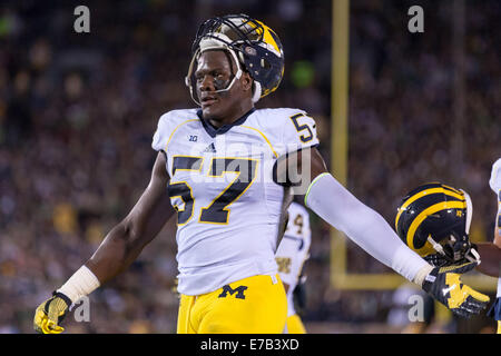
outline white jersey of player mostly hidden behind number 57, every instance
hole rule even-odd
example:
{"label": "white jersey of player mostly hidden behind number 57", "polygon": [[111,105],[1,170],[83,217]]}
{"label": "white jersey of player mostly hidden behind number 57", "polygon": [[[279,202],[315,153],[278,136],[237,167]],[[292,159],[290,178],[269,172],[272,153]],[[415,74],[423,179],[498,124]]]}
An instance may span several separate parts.
{"label": "white jersey of player mostly hidden behind number 57", "polygon": [[287,316],[296,314],[293,293],[297,286],[303,265],[310,257],[311,244],[310,214],[302,205],[293,201],[288,207],[287,228],[275,257],[282,281],[288,285]]}

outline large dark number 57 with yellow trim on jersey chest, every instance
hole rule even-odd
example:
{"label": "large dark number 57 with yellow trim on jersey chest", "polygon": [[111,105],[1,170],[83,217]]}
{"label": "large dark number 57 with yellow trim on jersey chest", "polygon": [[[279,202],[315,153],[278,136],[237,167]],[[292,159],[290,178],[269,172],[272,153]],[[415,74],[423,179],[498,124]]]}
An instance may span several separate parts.
{"label": "large dark number 57 with yellow trim on jersey chest", "polygon": [[[176,170],[200,171],[203,157],[175,156],[173,158],[173,177]],[[237,172],[237,177],[207,206],[202,208],[198,222],[228,224],[228,206],[235,202],[252,185],[256,176],[257,160],[246,158],[213,158],[210,160],[209,177],[223,177],[225,172]],[[188,222],[193,217],[193,189],[186,181],[170,181],[169,197],[179,197],[184,208],[177,205],[177,224]]]}

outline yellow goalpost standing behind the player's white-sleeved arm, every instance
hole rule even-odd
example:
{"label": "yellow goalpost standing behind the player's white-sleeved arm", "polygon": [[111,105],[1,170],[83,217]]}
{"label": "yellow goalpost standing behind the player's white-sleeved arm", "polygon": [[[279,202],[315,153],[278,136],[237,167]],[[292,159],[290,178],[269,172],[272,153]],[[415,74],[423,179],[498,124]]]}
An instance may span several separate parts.
{"label": "yellow goalpost standing behind the player's white-sleeved arm", "polygon": [[[344,186],[348,160],[350,0],[332,0],[331,169]],[[331,228],[331,286],[337,290],[395,289],[405,279],[396,273],[348,274],[346,237]],[[495,290],[497,279],[466,275],[463,281],[481,290]]]}

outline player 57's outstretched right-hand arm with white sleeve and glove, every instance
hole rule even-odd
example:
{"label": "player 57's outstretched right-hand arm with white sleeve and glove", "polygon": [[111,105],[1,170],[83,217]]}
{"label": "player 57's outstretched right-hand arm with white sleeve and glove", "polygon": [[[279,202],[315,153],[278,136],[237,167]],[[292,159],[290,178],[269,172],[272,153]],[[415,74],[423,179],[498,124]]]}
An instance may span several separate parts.
{"label": "player 57's outstretched right-hand arm with white sleeve and glove", "polygon": [[[303,181],[311,181],[305,194],[305,205],[374,258],[393,268],[411,281],[421,286],[439,301],[459,315],[469,316],[487,306],[489,297],[460,281],[460,274],[477,266],[471,263],[454,270],[433,268],[418,254],[403,244],[386,220],[365,206],[344,188],[326,169],[316,148],[303,149],[297,159],[286,159],[301,167],[310,161],[308,169],[302,169]],[[299,169],[288,167],[289,171]],[[281,171],[281,169],[277,169]],[[311,172],[306,177],[304,172]]]}

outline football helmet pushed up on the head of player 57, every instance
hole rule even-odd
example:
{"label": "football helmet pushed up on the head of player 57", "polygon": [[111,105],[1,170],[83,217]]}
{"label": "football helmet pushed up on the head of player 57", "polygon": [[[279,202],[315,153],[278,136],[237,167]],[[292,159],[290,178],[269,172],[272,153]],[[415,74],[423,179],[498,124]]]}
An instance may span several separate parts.
{"label": "football helmet pushed up on the head of player 57", "polygon": [[191,47],[191,62],[185,82],[193,100],[199,105],[193,85],[195,65],[207,50],[223,49],[229,52],[237,70],[226,88],[227,91],[243,70],[254,79],[253,101],[257,102],[278,88],[284,75],[284,51],[278,36],[266,24],[247,14],[227,14],[206,20],[199,28]]}

